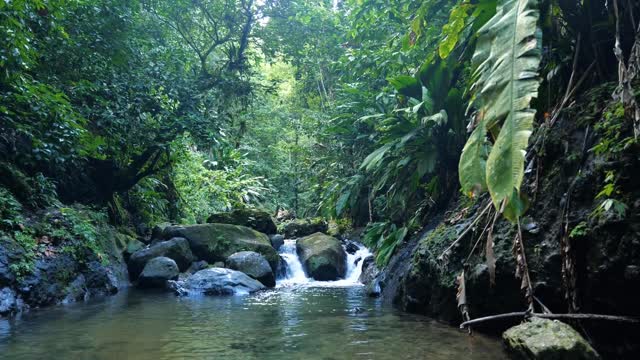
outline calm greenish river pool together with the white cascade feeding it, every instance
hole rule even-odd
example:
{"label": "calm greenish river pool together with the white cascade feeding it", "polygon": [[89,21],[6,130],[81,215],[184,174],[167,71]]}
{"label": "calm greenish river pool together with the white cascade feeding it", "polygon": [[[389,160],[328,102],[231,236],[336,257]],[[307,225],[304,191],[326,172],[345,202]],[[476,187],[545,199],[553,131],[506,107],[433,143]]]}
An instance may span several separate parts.
{"label": "calm greenish river pool together with the white cascade feeding it", "polygon": [[362,261],[353,263],[368,250],[349,256],[346,279],[316,282],[294,268],[297,257],[285,255],[290,246],[281,249],[287,277],[253,295],[178,298],[131,289],[0,319],[0,358],[505,358],[496,339],[470,337],[367,297],[356,276]]}

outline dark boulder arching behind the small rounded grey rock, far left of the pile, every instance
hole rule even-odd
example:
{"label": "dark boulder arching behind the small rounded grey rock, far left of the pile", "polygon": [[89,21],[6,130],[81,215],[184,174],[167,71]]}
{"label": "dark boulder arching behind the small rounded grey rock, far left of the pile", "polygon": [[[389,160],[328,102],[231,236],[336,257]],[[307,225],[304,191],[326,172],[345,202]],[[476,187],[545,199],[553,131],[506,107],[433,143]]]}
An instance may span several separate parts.
{"label": "dark boulder arching behind the small rounded grey rock, far left of the pile", "polygon": [[180,271],[185,271],[196,260],[185,238],[175,237],[171,240],[152,244],[146,249],[136,251],[129,259],[129,276],[135,279],[147,262],[157,257],[168,257],[175,261]]}

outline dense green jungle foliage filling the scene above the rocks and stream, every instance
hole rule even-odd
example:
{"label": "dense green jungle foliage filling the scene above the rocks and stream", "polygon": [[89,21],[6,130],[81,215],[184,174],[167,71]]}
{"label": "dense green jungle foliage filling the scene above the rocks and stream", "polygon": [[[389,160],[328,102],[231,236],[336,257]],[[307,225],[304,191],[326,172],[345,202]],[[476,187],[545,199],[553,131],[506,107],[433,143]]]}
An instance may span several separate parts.
{"label": "dense green jungle foliage filling the scene above the rocks and stream", "polygon": [[3,229],[58,199],[125,225],[260,206],[369,224],[384,263],[459,191],[517,221],[529,137],[577,92],[618,83],[607,131],[635,141],[640,5],[611,5],[0,2]]}

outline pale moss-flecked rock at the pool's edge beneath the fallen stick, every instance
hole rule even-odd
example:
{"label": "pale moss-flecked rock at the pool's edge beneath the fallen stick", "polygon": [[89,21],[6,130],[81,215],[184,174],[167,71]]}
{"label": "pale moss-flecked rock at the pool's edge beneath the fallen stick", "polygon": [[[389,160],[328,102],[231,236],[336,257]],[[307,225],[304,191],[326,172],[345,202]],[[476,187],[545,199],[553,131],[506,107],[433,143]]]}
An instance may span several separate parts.
{"label": "pale moss-flecked rock at the pool's edge beneath the fallen stick", "polygon": [[505,331],[502,339],[513,359],[599,359],[577,331],[559,321],[533,318]]}

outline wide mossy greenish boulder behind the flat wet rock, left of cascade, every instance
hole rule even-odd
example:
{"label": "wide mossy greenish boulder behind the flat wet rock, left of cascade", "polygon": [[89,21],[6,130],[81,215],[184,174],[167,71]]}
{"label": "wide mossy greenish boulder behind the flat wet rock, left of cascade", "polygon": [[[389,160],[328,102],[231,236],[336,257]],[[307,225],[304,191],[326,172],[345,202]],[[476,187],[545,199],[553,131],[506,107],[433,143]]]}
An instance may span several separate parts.
{"label": "wide mossy greenish boulder behind the flat wet rock, left of cascade", "polygon": [[278,266],[278,253],[271,246],[267,235],[245,226],[230,224],[170,226],[165,229],[164,236],[187,239],[196,257],[206,260],[209,264],[225,261],[231,254],[239,251],[255,251],[267,259],[272,270]]}

